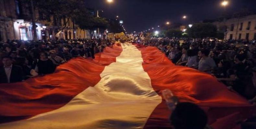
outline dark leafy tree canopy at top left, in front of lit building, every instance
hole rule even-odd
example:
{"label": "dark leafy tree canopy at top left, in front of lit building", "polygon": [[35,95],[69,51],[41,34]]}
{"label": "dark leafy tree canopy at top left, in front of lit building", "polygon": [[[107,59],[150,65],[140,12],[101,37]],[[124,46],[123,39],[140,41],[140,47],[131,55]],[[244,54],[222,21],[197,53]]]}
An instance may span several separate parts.
{"label": "dark leafy tree canopy at top left, in front of lit building", "polygon": [[[81,16],[80,14],[85,14],[83,16],[87,17],[84,17],[84,19],[87,19],[88,21],[95,20],[93,16],[88,17],[89,13],[85,8],[86,4],[84,0],[21,0],[21,2],[30,5],[29,9],[31,9],[31,12],[36,10],[40,15],[53,16],[57,21],[65,18],[74,20],[77,19],[77,15]],[[67,27],[68,20],[64,21],[64,26],[57,22],[57,26],[61,27],[61,30],[64,30]],[[94,23],[99,22],[96,20]],[[33,28],[35,28],[35,20],[32,20],[32,24]],[[34,35],[37,35],[36,31],[34,32]]]}

